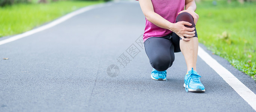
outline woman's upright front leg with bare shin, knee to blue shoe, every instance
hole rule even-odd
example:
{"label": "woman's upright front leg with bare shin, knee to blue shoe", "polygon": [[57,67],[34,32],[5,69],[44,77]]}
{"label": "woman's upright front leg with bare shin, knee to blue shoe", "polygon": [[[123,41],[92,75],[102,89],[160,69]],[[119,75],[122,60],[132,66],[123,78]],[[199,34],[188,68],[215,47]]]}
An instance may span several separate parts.
{"label": "woman's upright front leg with bare shin, knee to blue shoe", "polygon": [[[187,21],[187,22],[190,22],[192,26],[185,25],[185,27],[189,27],[189,28],[195,27],[193,17],[187,12],[180,13],[176,18],[176,22],[177,21]],[[173,36],[173,38],[177,36],[178,35],[175,35]],[[195,29],[195,37],[190,38],[190,41],[183,41],[180,38],[180,50],[184,55],[187,63],[187,74],[184,77],[184,85],[183,85],[186,88],[187,92],[188,91],[205,92],[205,87],[199,79],[199,77],[201,76],[198,75],[198,73],[196,72],[196,60],[198,55],[198,38],[197,37],[198,36]],[[177,41],[177,38],[175,39]]]}

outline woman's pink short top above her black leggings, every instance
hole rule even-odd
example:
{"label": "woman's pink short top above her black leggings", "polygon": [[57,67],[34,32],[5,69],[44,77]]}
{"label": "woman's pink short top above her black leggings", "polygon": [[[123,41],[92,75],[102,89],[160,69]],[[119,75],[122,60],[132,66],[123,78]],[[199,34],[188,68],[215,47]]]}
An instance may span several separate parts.
{"label": "woman's pink short top above her black leggings", "polygon": [[[178,13],[184,10],[185,0],[151,0],[154,12],[165,18],[171,23],[175,23]],[[146,41],[150,37],[162,37],[170,34],[172,31],[157,27],[146,19],[145,32],[143,40]]]}

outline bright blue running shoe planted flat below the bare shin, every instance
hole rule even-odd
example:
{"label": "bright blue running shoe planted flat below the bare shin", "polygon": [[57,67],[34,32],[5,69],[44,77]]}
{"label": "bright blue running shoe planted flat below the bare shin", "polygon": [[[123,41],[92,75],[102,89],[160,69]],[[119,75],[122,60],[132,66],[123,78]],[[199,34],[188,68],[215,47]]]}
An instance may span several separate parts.
{"label": "bright blue running shoe planted flat below the bare shin", "polygon": [[205,92],[204,85],[201,83],[199,77],[201,76],[198,75],[198,73],[194,71],[193,68],[191,71],[189,71],[189,74],[185,75],[185,83],[183,86],[186,88],[187,92]]}

